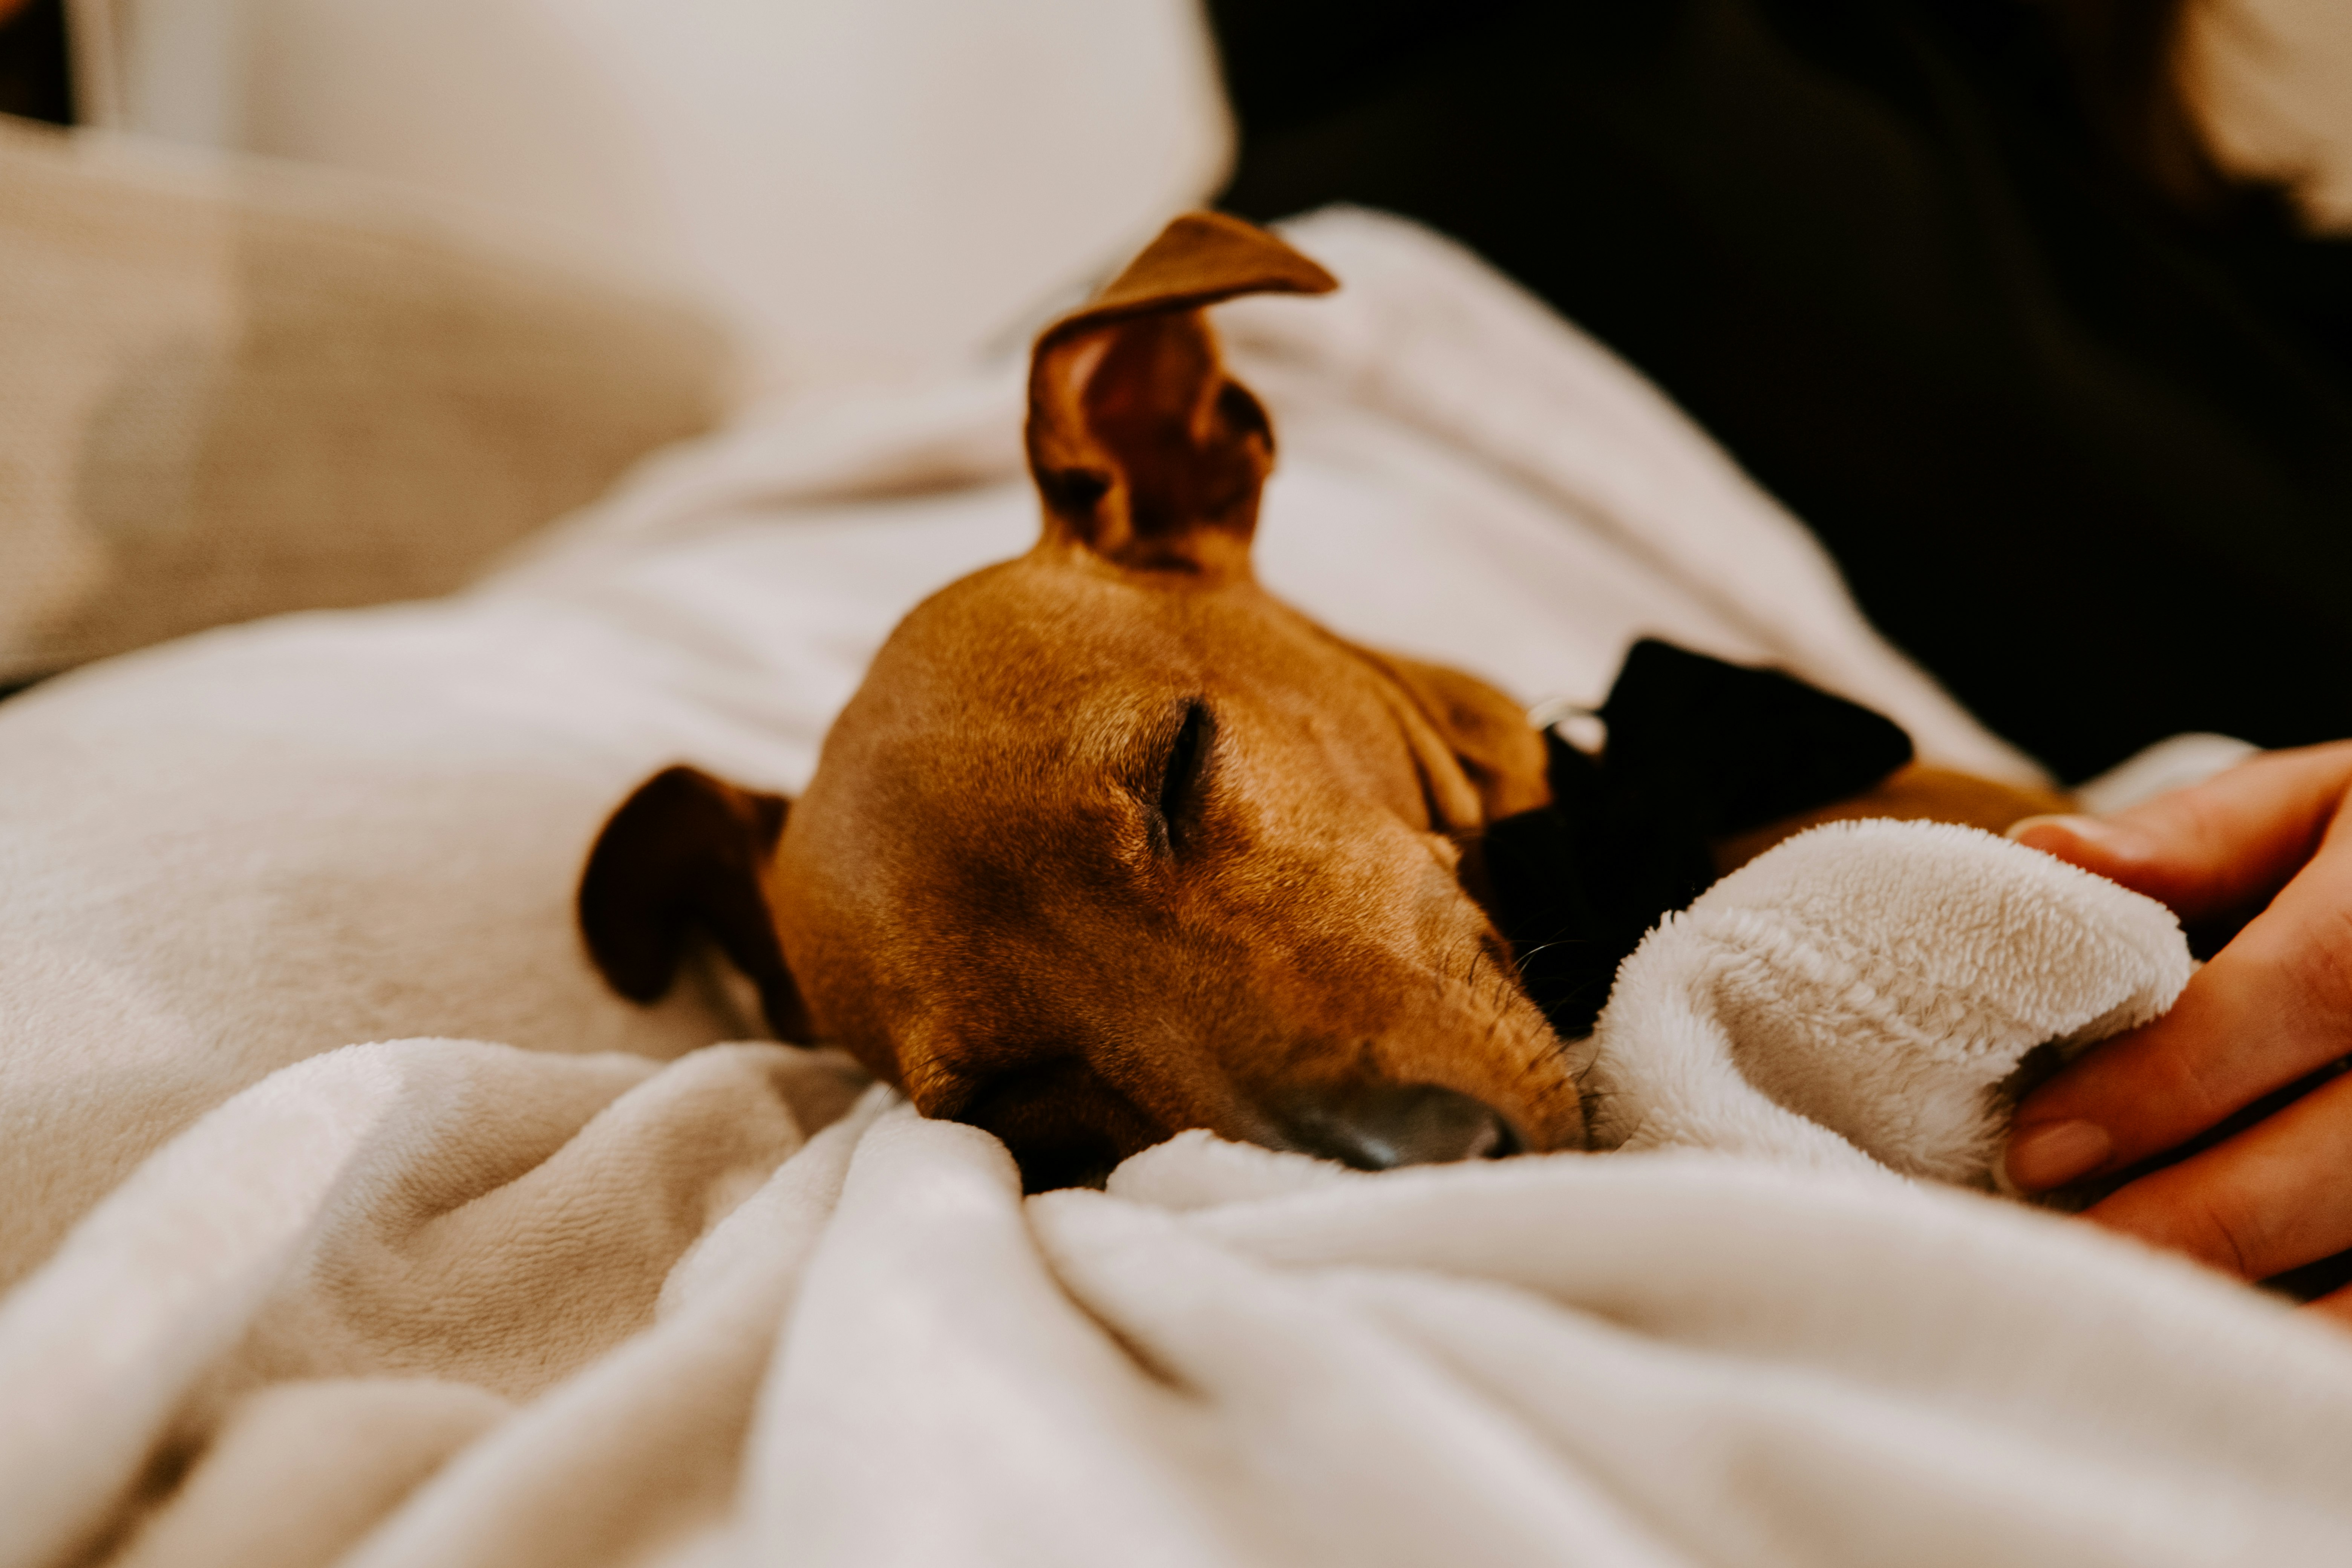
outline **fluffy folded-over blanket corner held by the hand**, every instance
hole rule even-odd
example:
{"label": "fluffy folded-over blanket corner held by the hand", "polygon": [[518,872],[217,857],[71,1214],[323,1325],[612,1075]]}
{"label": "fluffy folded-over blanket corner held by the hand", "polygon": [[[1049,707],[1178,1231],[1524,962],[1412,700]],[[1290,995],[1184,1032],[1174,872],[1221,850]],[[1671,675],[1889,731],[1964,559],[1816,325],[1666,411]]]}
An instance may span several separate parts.
{"label": "fluffy folded-over blanket corner held by the hand", "polygon": [[1990,832],[1797,835],[1651,931],[1595,1030],[1592,1147],[1994,1185],[2006,1079],[2164,1013],[2173,914]]}

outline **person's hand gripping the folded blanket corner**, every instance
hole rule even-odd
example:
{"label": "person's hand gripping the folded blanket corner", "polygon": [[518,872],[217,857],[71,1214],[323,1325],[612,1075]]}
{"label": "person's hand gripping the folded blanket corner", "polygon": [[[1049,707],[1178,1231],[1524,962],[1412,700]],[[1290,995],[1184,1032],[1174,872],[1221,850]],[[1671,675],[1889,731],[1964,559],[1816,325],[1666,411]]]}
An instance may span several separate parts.
{"label": "person's hand gripping the folded blanket corner", "polygon": [[[2352,743],[2267,752],[2110,818],[2009,832],[2190,924],[2260,907],[2171,1013],[2093,1046],[2018,1105],[2006,1154],[2018,1187],[2129,1171],[2352,1053]],[[2352,1248],[2352,1074],[2084,1213],[2241,1279]],[[2352,1286],[2314,1309],[2352,1321]]]}

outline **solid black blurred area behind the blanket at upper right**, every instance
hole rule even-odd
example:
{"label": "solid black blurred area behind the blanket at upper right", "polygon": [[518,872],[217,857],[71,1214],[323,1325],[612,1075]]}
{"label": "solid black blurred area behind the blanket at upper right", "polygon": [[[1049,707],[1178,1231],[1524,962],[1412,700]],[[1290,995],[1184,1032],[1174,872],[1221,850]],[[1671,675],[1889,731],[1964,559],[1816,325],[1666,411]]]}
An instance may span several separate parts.
{"label": "solid black blurred area behind the blanket at upper right", "polygon": [[1225,205],[1468,242],[2065,778],[2352,736],[2352,247],[2201,162],[2176,9],[1211,0]]}

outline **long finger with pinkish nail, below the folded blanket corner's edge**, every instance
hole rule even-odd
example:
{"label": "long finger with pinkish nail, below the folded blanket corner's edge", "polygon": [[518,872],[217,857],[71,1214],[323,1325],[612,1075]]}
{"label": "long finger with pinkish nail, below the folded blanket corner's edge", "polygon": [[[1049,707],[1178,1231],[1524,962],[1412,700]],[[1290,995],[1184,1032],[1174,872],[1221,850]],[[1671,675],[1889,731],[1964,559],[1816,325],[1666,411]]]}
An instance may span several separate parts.
{"label": "long finger with pinkish nail, below the folded blanket corner's edge", "polygon": [[2020,1105],[2025,1192],[2122,1171],[2352,1053],[2352,813],[2164,1018],[2093,1046]]}

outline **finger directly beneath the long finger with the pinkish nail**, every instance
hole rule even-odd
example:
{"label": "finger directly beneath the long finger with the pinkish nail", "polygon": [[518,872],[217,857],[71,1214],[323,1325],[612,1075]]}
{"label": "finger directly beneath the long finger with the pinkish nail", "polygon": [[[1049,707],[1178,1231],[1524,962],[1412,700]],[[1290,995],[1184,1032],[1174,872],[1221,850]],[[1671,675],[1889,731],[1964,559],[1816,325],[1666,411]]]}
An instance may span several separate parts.
{"label": "finger directly beneath the long finger with the pinkish nail", "polygon": [[2237,1138],[2119,1187],[2086,1218],[2270,1279],[2352,1246],[2352,1077]]}

